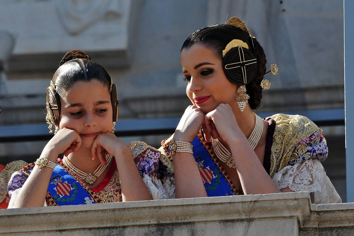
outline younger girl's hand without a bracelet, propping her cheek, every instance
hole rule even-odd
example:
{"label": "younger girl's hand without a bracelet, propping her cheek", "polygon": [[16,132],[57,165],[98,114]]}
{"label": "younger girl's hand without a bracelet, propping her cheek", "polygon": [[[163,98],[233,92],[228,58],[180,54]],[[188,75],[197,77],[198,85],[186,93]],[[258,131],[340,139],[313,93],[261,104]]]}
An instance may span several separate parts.
{"label": "younger girl's hand without a bracelet, propping her cheek", "polygon": [[121,141],[113,133],[110,132],[105,132],[97,135],[91,146],[93,160],[98,158],[102,165],[107,164],[107,160],[105,158],[106,154],[117,157],[127,150],[130,153],[128,146],[126,146],[123,141]]}

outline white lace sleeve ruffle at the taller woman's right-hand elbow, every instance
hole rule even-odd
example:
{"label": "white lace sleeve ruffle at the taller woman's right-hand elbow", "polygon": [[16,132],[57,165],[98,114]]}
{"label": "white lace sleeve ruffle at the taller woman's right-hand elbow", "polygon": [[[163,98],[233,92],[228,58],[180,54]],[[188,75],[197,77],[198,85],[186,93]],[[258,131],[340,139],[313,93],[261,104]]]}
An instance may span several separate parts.
{"label": "white lace sleeve ruffle at the taller woman's right-hand elbow", "polygon": [[274,175],[273,182],[280,190],[289,187],[294,192],[312,193],[315,204],[342,202],[319,160],[309,159],[286,166]]}

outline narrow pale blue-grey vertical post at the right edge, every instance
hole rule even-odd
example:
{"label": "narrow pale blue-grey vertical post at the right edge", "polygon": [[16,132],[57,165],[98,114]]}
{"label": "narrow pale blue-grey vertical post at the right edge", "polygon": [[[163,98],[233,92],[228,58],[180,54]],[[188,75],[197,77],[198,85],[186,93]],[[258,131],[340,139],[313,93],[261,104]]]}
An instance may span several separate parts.
{"label": "narrow pale blue-grey vertical post at the right edge", "polygon": [[354,1],[344,1],[344,96],[346,110],[347,202],[354,202]]}

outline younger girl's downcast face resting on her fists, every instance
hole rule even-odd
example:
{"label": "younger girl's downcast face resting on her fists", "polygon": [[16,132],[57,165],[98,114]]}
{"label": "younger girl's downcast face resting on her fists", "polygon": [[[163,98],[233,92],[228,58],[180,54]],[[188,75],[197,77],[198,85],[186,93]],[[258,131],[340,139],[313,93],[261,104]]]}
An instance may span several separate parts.
{"label": "younger girl's downcast face resting on her fists", "polygon": [[59,128],[75,130],[82,139],[82,147],[91,147],[97,135],[112,130],[110,93],[97,79],[76,82],[60,101]]}

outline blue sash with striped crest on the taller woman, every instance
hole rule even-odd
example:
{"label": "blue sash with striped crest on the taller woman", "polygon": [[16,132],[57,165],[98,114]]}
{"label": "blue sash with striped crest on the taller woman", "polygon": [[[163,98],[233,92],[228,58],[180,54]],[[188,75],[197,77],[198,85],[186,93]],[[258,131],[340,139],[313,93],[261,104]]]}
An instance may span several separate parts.
{"label": "blue sash with striped crest on the taller woman", "polygon": [[[201,134],[198,136],[201,136]],[[192,142],[193,156],[198,165],[208,197],[235,195],[229,182],[225,179],[221,168],[215,164],[207,148],[201,143],[198,136],[195,137]]]}

